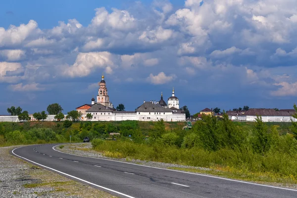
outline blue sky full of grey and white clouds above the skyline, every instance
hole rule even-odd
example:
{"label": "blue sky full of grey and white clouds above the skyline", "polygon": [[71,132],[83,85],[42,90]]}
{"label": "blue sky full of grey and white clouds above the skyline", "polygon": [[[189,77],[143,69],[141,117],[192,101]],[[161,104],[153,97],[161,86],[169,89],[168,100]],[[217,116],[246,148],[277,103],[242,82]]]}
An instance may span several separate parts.
{"label": "blue sky full of grey and white clouds above the skyline", "polygon": [[134,110],[172,88],[191,114],[293,108],[296,0],[9,0],[0,6],[0,114],[98,95]]}

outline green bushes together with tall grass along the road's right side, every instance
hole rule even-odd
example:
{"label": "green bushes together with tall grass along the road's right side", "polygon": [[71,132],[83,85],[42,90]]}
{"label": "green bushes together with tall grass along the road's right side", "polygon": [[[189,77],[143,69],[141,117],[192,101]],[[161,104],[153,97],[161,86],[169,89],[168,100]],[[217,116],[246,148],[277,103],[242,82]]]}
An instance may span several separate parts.
{"label": "green bushes together with tall grass along the road's right side", "polygon": [[297,126],[277,124],[268,125],[258,116],[248,128],[225,114],[223,118],[203,116],[186,132],[166,130],[159,121],[148,139],[136,131],[130,139],[93,140],[92,146],[107,157],[207,167],[204,173],[297,184]]}

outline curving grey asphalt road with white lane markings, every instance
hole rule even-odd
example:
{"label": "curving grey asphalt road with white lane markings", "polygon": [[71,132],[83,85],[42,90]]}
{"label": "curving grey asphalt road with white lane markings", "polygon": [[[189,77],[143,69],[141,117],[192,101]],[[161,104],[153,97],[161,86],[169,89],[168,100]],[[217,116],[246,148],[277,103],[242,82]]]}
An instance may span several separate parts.
{"label": "curving grey asphalt road with white lane markings", "polygon": [[76,156],[57,144],[16,148],[14,155],[122,198],[297,198],[297,190]]}

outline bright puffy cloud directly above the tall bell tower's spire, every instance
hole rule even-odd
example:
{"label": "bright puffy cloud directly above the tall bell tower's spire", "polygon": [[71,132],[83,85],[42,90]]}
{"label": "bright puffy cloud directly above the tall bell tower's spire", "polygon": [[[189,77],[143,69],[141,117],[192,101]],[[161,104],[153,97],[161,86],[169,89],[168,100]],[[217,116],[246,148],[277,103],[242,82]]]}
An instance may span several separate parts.
{"label": "bright puffy cloud directly above the tall bell tower's spire", "polygon": [[63,74],[71,77],[88,76],[97,67],[106,68],[105,72],[111,73],[111,67],[114,66],[112,59],[113,55],[107,51],[79,53],[75,63],[64,68]]}

